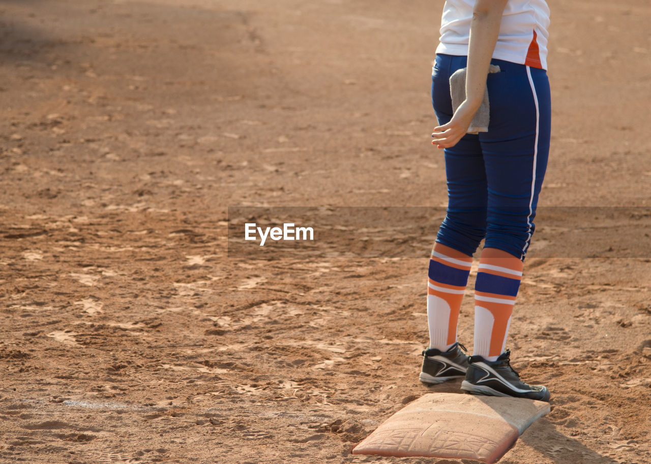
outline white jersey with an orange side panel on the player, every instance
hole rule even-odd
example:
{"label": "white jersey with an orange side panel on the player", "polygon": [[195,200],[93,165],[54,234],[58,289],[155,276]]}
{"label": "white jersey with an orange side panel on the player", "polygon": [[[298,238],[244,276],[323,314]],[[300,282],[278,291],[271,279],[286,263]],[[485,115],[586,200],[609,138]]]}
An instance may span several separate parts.
{"label": "white jersey with an orange side panel on the player", "polygon": [[[475,0],[447,0],[436,53],[468,55]],[[545,0],[508,0],[493,58],[547,69],[549,6]]]}

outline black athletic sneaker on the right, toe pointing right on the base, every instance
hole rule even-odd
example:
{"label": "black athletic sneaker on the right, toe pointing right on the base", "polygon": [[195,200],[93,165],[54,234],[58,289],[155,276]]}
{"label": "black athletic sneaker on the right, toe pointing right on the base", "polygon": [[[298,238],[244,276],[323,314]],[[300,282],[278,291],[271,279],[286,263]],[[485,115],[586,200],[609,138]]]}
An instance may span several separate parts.
{"label": "black athletic sneaker on the right, toe pointing right on the base", "polygon": [[472,394],[515,396],[531,400],[549,401],[549,390],[544,385],[527,385],[510,365],[510,351],[506,350],[496,361],[471,356],[461,389]]}

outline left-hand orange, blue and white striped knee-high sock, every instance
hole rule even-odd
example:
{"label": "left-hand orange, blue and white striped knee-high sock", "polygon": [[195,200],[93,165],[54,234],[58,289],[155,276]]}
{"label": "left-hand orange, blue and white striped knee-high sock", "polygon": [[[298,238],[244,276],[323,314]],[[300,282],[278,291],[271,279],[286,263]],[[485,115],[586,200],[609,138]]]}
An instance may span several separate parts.
{"label": "left-hand orange, blue and white striped knee-high sock", "polygon": [[472,264],[472,256],[434,244],[427,289],[430,348],[447,351],[456,342],[459,309]]}

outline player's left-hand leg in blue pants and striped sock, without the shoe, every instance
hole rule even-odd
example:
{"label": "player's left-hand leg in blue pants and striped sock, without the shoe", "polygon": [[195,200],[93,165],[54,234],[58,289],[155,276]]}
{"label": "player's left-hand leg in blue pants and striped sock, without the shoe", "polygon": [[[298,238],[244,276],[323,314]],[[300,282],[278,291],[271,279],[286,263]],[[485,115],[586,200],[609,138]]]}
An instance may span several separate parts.
{"label": "player's left-hand leg in blue pants and striped sock, without the shoe", "polygon": [[[439,124],[452,118],[450,75],[465,57],[438,55],[432,72],[432,101]],[[473,253],[486,231],[486,170],[477,135],[465,135],[445,149],[447,215],[432,250],[427,316],[430,348],[446,352],[456,342],[456,326]]]}

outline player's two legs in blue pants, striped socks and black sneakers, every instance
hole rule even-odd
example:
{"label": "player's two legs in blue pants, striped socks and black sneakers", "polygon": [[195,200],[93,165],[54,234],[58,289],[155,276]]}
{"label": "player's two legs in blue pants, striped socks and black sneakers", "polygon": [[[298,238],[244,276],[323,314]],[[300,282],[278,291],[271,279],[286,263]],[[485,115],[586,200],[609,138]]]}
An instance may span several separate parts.
{"label": "player's two legs in blue pants, striped socks and black sneakers", "polygon": [[[439,123],[451,118],[447,81],[464,60],[437,57],[432,96]],[[488,133],[466,135],[445,149],[449,202],[430,260],[430,349],[423,352],[421,380],[437,383],[466,370],[462,389],[470,393],[549,400],[546,387],[519,379],[505,351],[547,166],[549,82],[543,70],[500,60],[493,64],[502,71],[488,75]],[[465,270],[484,236],[475,283],[475,355],[468,360],[450,343],[456,340]]]}

